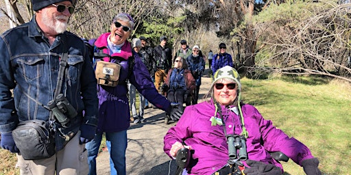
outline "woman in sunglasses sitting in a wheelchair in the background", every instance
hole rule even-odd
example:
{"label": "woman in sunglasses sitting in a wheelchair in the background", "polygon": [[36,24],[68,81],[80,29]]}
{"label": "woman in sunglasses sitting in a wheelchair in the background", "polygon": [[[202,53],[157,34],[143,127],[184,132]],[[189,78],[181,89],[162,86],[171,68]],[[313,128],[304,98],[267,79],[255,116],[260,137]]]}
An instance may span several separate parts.
{"label": "woman in sunglasses sitting in a wheelchair in the background", "polygon": [[[186,96],[195,89],[195,79],[188,70],[185,59],[177,57],[174,59],[174,68],[168,71],[165,84],[162,85],[163,92],[167,92],[166,96],[171,103],[178,103],[176,106],[180,111],[184,111],[183,103]],[[171,116],[172,117],[172,116]],[[176,121],[179,118],[171,118]]]}

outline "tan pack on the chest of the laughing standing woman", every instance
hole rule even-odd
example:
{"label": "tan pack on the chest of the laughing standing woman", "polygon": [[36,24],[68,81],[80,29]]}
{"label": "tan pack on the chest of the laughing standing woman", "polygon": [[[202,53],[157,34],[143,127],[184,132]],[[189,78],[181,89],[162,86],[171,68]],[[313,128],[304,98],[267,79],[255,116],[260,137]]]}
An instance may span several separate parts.
{"label": "tan pack on the chest of the laughing standing woman", "polygon": [[96,63],[95,77],[99,85],[116,87],[118,85],[121,65],[111,62],[98,61]]}

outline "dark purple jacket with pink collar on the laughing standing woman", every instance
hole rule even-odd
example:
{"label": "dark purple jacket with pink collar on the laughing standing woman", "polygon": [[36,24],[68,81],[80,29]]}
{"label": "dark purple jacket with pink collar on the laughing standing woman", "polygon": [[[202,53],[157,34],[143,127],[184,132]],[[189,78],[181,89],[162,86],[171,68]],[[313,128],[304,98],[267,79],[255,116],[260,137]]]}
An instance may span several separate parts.
{"label": "dark purple jacket with pink collar on the laughing standing woman", "polygon": [[[125,44],[121,48],[121,53],[111,54],[107,42],[109,35],[110,33],[104,33],[99,36],[95,41],[95,46],[99,50],[104,51],[104,53],[112,56],[111,59],[104,57],[104,61],[119,62],[121,64],[119,81],[123,82],[129,79],[130,83],[149,102],[164,111],[169,109],[169,101],[161,94],[158,94],[145,64],[143,64],[138,54],[132,53],[130,42],[125,41]],[[131,59],[132,55],[134,56],[134,66],[130,72],[128,70],[128,59]],[[97,96],[99,98],[99,124],[97,131],[117,132],[128,129],[130,126],[130,107],[128,103],[127,83],[119,83],[116,87],[97,85]]]}

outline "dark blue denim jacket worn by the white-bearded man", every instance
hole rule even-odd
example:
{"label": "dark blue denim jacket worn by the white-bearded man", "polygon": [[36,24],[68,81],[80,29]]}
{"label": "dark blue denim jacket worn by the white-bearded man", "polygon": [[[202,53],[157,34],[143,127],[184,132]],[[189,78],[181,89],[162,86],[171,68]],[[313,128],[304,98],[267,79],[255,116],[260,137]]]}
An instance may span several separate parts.
{"label": "dark blue denim jacket worn by the white-bearded man", "polygon": [[[82,122],[97,126],[97,81],[84,42],[65,31],[56,36],[50,46],[34,16],[29,23],[0,36],[1,133],[11,132],[23,120],[49,119],[49,111],[23,92],[47,105],[53,99],[59,60],[65,50],[69,55],[60,93],[66,96],[78,115],[71,119],[71,126],[62,131],[76,132]],[[62,148],[58,143],[56,146],[58,150]]]}

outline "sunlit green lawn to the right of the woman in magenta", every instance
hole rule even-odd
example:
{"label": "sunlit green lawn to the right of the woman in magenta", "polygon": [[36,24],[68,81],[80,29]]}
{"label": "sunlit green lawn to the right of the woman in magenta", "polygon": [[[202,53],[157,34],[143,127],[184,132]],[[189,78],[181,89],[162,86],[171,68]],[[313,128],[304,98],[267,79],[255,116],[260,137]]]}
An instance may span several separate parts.
{"label": "sunlit green lawn to the right of the woman in magenta", "polygon": [[[351,172],[351,85],[323,77],[241,79],[243,100],[264,118],[300,140],[319,158],[322,174]],[[137,105],[138,107],[138,97]],[[101,143],[105,146],[105,142]],[[18,174],[16,157],[0,150],[0,175]],[[304,174],[293,161],[282,163],[285,174]]]}

